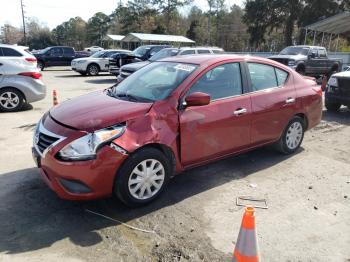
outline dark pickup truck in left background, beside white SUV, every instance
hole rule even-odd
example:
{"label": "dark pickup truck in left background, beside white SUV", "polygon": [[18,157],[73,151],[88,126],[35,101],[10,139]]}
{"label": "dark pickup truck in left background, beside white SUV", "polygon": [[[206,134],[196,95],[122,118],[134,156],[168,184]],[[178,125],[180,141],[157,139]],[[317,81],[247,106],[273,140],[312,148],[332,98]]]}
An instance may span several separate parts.
{"label": "dark pickup truck in left background, beside white SUV", "polygon": [[38,60],[38,67],[44,70],[49,66],[70,66],[73,59],[90,56],[90,53],[75,52],[68,46],[50,46],[33,55]]}

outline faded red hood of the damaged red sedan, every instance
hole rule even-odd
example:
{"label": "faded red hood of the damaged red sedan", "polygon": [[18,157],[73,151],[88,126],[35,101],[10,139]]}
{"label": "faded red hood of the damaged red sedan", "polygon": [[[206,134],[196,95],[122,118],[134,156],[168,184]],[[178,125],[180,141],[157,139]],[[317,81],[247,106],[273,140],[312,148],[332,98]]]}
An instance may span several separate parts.
{"label": "faded red hood of the damaged red sedan", "polygon": [[60,103],[50,110],[57,122],[92,132],[146,114],[152,103],[135,103],[96,91]]}

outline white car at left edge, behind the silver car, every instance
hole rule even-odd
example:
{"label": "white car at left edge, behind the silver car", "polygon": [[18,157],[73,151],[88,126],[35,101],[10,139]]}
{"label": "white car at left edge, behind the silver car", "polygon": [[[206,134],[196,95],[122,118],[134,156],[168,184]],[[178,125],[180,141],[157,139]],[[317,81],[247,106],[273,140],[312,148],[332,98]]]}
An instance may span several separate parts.
{"label": "white car at left edge, behind the silver car", "polygon": [[28,47],[0,44],[0,62],[13,61],[24,66],[36,67],[37,60]]}

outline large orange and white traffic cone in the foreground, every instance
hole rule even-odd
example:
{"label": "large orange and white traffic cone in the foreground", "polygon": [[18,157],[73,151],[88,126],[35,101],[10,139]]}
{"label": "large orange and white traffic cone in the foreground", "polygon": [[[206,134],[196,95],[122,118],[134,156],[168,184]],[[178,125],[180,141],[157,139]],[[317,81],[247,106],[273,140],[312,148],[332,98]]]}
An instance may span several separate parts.
{"label": "large orange and white traffic cone in the foreground", "polygon": [[255,231],[254,208],[246,207],[239,230],[233,262],[258,262],[258,241]]}

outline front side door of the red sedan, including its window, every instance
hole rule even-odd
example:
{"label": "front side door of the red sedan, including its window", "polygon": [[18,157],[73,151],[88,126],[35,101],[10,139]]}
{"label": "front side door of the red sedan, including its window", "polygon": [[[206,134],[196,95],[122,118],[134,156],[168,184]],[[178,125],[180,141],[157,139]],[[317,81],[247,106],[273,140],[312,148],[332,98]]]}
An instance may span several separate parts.
{"label": "front side door of the red sedan, including its window", "polygon": [[[179,112],[181,161],[196,165],[250,144],[251,101],[244,92],[241,64],[225,63],[209,69],[192,85],[194,92],[209,94],[205,106],[185,107]],[[183,98],[183,101],[185,99]]]}

